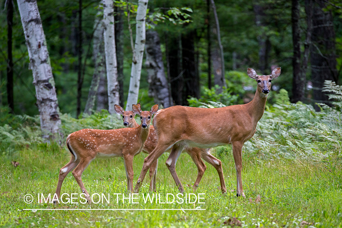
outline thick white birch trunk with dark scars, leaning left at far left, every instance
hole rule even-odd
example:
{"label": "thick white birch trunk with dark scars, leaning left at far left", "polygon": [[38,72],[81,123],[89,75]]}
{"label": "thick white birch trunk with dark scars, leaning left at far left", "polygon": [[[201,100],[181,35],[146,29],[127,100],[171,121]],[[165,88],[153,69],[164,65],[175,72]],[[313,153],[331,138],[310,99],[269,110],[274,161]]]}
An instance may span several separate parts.
{"label": "thick white birch trunk with dark scars, leaning left at far left", "polygon": [[61,119],[37,1],[17,0],[17,2],[30,58],[29,69],[32,70],[33,84],[36,89],[40,128],[43,138],[54,138],[59,133]]}

